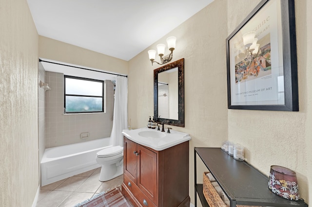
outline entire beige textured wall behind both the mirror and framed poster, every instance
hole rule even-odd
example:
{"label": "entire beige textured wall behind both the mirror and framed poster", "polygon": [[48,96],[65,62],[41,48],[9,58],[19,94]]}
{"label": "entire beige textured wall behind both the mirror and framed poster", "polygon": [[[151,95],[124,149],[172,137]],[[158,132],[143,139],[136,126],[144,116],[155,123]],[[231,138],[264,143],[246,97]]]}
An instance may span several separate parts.
{"label": "entire beige textured wall behind both the mirror and framed poster", "polygon": [[[215,0],[168,35],[129,61],[128,117],[132,127],[146,125],[153,116],[153,70],[147,51],[165,43],[168,36],[177,37],[174,58],[185,58],[185,128],[189,133],[190,197],[194,203],[194,146],[219,147],[232,140],[246,147],[246,159],[269,174],[271,165],[294,170],[301,196],[309,202],[312,192],[312,109],[311,64],[307,59],[312,48],[312,2],[295,0],[299,79],[299,112],[227,109],[227,76],[225,39],[260,0]],[[308,43],[308,44],[307,44]],[[157,61],[157,57],[156,57]],[[247,121],[254,127],[243,127]],[[309,147],[306,147],[309,146]],[[197,163],[200,163],[198,160]],[[203,166],[197,178],[202,180]],[[311,200],[311,199],[310,199]]]}

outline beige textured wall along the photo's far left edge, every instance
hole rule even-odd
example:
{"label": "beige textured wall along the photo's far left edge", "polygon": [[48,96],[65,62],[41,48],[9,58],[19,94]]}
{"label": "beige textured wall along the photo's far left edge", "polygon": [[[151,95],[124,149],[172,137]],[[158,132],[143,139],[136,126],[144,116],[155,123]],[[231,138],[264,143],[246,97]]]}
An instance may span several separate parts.
{"label": "beige textured wall along the photo's far left edge", "polygon": [[38,33],[26,0],[0,4],[0,206],[31,207],[39,187]]}

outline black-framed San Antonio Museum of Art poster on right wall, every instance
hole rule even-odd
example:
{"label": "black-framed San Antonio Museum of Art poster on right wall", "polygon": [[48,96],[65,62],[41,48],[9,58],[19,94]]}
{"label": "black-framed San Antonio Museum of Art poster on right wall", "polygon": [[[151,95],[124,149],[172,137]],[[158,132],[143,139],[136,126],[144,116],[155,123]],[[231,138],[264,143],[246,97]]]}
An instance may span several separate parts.
{"label": "black-framed San Antonio Museum of Art poster on right wall", "polygon": [[229,109],[299,111],[294,0],[262,0],[226,51]]}

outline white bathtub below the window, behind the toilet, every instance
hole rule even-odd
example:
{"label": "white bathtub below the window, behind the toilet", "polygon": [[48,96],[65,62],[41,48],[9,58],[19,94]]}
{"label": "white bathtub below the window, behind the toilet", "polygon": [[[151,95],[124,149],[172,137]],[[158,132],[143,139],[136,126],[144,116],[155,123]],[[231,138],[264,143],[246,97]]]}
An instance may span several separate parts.
{"label": "white bathtub below the window, behind the toilet", "polygon": [[[47,148],[41,160],[41,186],[100,167],[97,152],[109,147],[110,138]],[[101,146],[101,147],[100,147]]]}

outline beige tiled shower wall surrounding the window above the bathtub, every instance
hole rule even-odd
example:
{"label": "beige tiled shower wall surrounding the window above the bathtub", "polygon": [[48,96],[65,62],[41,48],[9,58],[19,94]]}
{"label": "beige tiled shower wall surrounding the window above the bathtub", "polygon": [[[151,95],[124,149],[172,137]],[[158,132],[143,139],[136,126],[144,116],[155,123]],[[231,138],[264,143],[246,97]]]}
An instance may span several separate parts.
{"label": "beige tiled shower wall surrounding the window above the bathtub", "polygon": [[[105,81],[106,113],[64,115],[64,76],[62,73],[45,72],[45,81],[51,90],[45,93],[45,147],[83,142],[111,135],[114,112],[114,90],[111,81]],[[80,134],[89,132],[89,138]]]}

